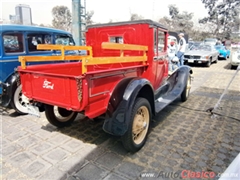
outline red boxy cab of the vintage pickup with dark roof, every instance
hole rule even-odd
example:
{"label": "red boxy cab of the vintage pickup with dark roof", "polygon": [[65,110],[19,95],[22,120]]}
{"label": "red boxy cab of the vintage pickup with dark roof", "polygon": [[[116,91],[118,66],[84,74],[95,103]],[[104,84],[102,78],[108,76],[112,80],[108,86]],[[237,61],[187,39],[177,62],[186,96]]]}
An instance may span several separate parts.
{"label": "red boxy cab of the vintage pickup with dark roof", "polygon": [[[150,66],[142,76],[152,83],[155,90],[168,77],[168,30],[161,24],[151,20],[139,20],[90,25],[86,35],[87,46],[93,49],[93,57],[120,56],[119,51],[101,49],[102,42],[147,46],[147,64]],[[125,51],[124,55],[136,56],[142,55],[142,52]]]}

